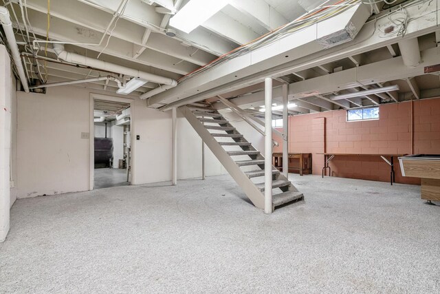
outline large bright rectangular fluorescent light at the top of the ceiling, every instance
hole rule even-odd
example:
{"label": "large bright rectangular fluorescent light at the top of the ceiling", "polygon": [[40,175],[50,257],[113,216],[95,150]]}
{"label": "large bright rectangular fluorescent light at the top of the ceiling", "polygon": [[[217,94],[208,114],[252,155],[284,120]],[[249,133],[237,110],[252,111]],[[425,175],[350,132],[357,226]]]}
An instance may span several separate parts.
{"label": "large bright rectangular fluorescent light at the top of the ceiling", "polygon": [[170,25],[189,34],[228,5],[230,0],[190,0],[170,19]]}

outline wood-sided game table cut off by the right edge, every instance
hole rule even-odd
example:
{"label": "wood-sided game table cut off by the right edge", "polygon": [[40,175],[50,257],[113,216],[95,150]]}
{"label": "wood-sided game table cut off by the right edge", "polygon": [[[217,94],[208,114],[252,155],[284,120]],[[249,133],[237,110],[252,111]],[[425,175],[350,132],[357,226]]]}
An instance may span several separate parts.
{"label": "wood-sided game table cut off by the right edge", "polygon": [[421,199],[440,201],[440,155],[399,157],[402,176],[421,178]]}

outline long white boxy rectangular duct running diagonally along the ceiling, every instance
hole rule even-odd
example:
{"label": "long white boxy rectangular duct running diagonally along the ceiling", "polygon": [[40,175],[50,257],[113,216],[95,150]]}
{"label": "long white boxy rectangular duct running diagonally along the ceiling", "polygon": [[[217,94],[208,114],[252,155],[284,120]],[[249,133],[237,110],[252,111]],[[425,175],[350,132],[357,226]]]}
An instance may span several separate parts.
{"label": "long white boxy rectangular duct running diagonally along the ceiling", "polygon": [[[208,91],[219,85],[225,85],[237,78],[258,74],[277,65],[299,59],[314,52],[352,41],[370,17],[371,9],[364,4],[355,4],[350,8],[324,18],[295,32],[282,34],[282,37],[270,41],[261,48],[250,50],[240,56],[224,61],[216,67],[188,78],[172,90],[148,98],[147,105],[159,107],[173,103],[173,107],[192,102],[190,96]],[[145,96],[144,96],[145,97]],[[179,101],[175,105],[175,101]],[[171,107],[164,107],[167,110]]]}

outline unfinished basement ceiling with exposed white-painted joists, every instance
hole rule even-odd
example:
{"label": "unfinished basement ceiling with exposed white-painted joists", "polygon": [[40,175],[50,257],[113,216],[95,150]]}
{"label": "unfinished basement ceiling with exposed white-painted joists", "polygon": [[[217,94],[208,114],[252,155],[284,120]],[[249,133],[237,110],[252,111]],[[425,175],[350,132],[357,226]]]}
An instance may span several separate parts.
{"label": "unfinished basement ceiling with exposed white-painted joists", "polygon": [[[351,2],[360,3],[360,1]],[[386,28],[384,19],[399,19],[399,16],[404,13],[408,28],[417,26],[416,22],[422,23],[421,27],[423,27],[430,15],[437,13],[432,8],[436,1],[388,2],[395,5],[379,1],[368,6],[373,14],[365,25],[368,28],[362,28],[357,39],[339,47],[354,47],[355,44],[365,43],[376,35],[377,38],[386,39],[388,35],[384,30]],[[50,41],[65,43],[64,48],[67,52],[179,81],[190,72],[217,59],[218,56],[276,29],[277,25],[294,21],[307,12],[316,11],[314,8],[324,3],[329,5],[336,1],[230,0],[228,5],[189,34],[171,28],[169,25],[171,15],[162,13],[164,8],[174,6],[179,10],[187,3],[188,0],[57,0],[52,1],[48,9],[46,0],[3,0],[3,5],[10,11],[12,25],[16,29],[16,39],[23,52],[23,64],[30,79],[30,85],[78,81],[107,75],[121,80],[131,78],[129,75],[122,77],[120,72],[104,71],[102,68],[57,59],[52,44],[46,47],[43,42],[46,38]],[[382,8],[387,10],[382,11]],[[50,13],[49,22],[48,13]],[[376,21],[375,31],[371,34],[366,32],[373,22],[376,24]],[[175,36],[167,36],[166,32],[169,29],[175,31]],[[399,25],[394,25],[395,31],[390,34],[397,34],[397,30],[400,29]],[[422,52],[432,50],[439,42],[439,34],[435,34],[432,30],[427,30],[424,34],[414,34],[417,35],[419,49]],[[36,39],[40,41],[35,43]],[[35,45],[37,50],[32,50],[32,45]],[[339,47],[337,46],[335,50]],[[322,52],[325,53],[327,50],[322,50]],[[299,70],[290,72],[280,70],[270,75],[278,80],[274,81],[274,87],[281,83],[289,83],[294,87],[306,81],[316,81],[320,84],[320,81],[328,79],[326,76],[364,65],[377,64],[377,67],[380,67],[380,63],[386,65],[388,61],[400,58],[400,55],[399,45],[395,39],[393,43],[376,47],[366,46],[358,50],[356,54],[344,54],[339,59],[332,59],[329,62],[301,67]],[[236,76],[240,78],[240,74],[237,72]],[[374,76],[371,78],[374,79]],[[179,83],[177,88],[184,89],[184,83]],[[331,101],[331,97],[338,94],[371,90],[387,85],[399,85],[399,90],[393,93],[360,96],[337,103]],[[111,93],[115,93],[119,88],[118,83],[112,80],[78,83],[75,86],[106,90]],[[132,94],[140,96],[161,87],[158,83],[148,81]],[[381,83],[371,83],[362,87],[345,87],[331,92],[321,91],[318,96],[300,97],[292,94],[289,99],[294,99],[298,105],[292,110],[292,114],[298,114],[378,105],[412,98],[430,98],[439,96],[439,89],[440,78],[437,72],[414,76],[408,70],[408,74],[403,74],[402,78],[390,77],[386,81],[382,79]],[[223,90],[215,94],[232,98],[234,103],[242,107],[259,107],[262,105],[261,90],[261,78],[255,78],[243,81],[241,84],[236,83],[233,87],[225,83]],[[314,87],[310,87],[310,91],[313,90]],[[215,99],[216,95],[209,95],[211,92],[200,92],[197,95],[194,94],[193,97],[199,100]],[[166,93],[157,96],[164,96]],[[276,97],[275,100],[277,100]],[[175,105],[175,101],[163,101],[153,107],[169,109],[170,105]]]}

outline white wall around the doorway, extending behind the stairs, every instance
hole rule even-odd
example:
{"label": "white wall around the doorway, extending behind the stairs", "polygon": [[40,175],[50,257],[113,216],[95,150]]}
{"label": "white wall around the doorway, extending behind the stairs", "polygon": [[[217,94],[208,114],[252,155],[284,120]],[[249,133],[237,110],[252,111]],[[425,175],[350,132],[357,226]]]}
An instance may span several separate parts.
{"label": "white wall around the doorway, extending behind the stairs", "polygon": [[[19,198],[89,189],[90,143],[81,133],[90,129],[90,94],[90,90],[73,86],[47,88],[47,94],[17,92]],[[138,98],[133,101],[132,183],[168,181],[172,174],[171,114],[147,108]],[[201,140],[181,116],[177,124],[178,178],[199,177]],[[207,176],[223,172],[210,151],[206,152],[206,171]]]}

